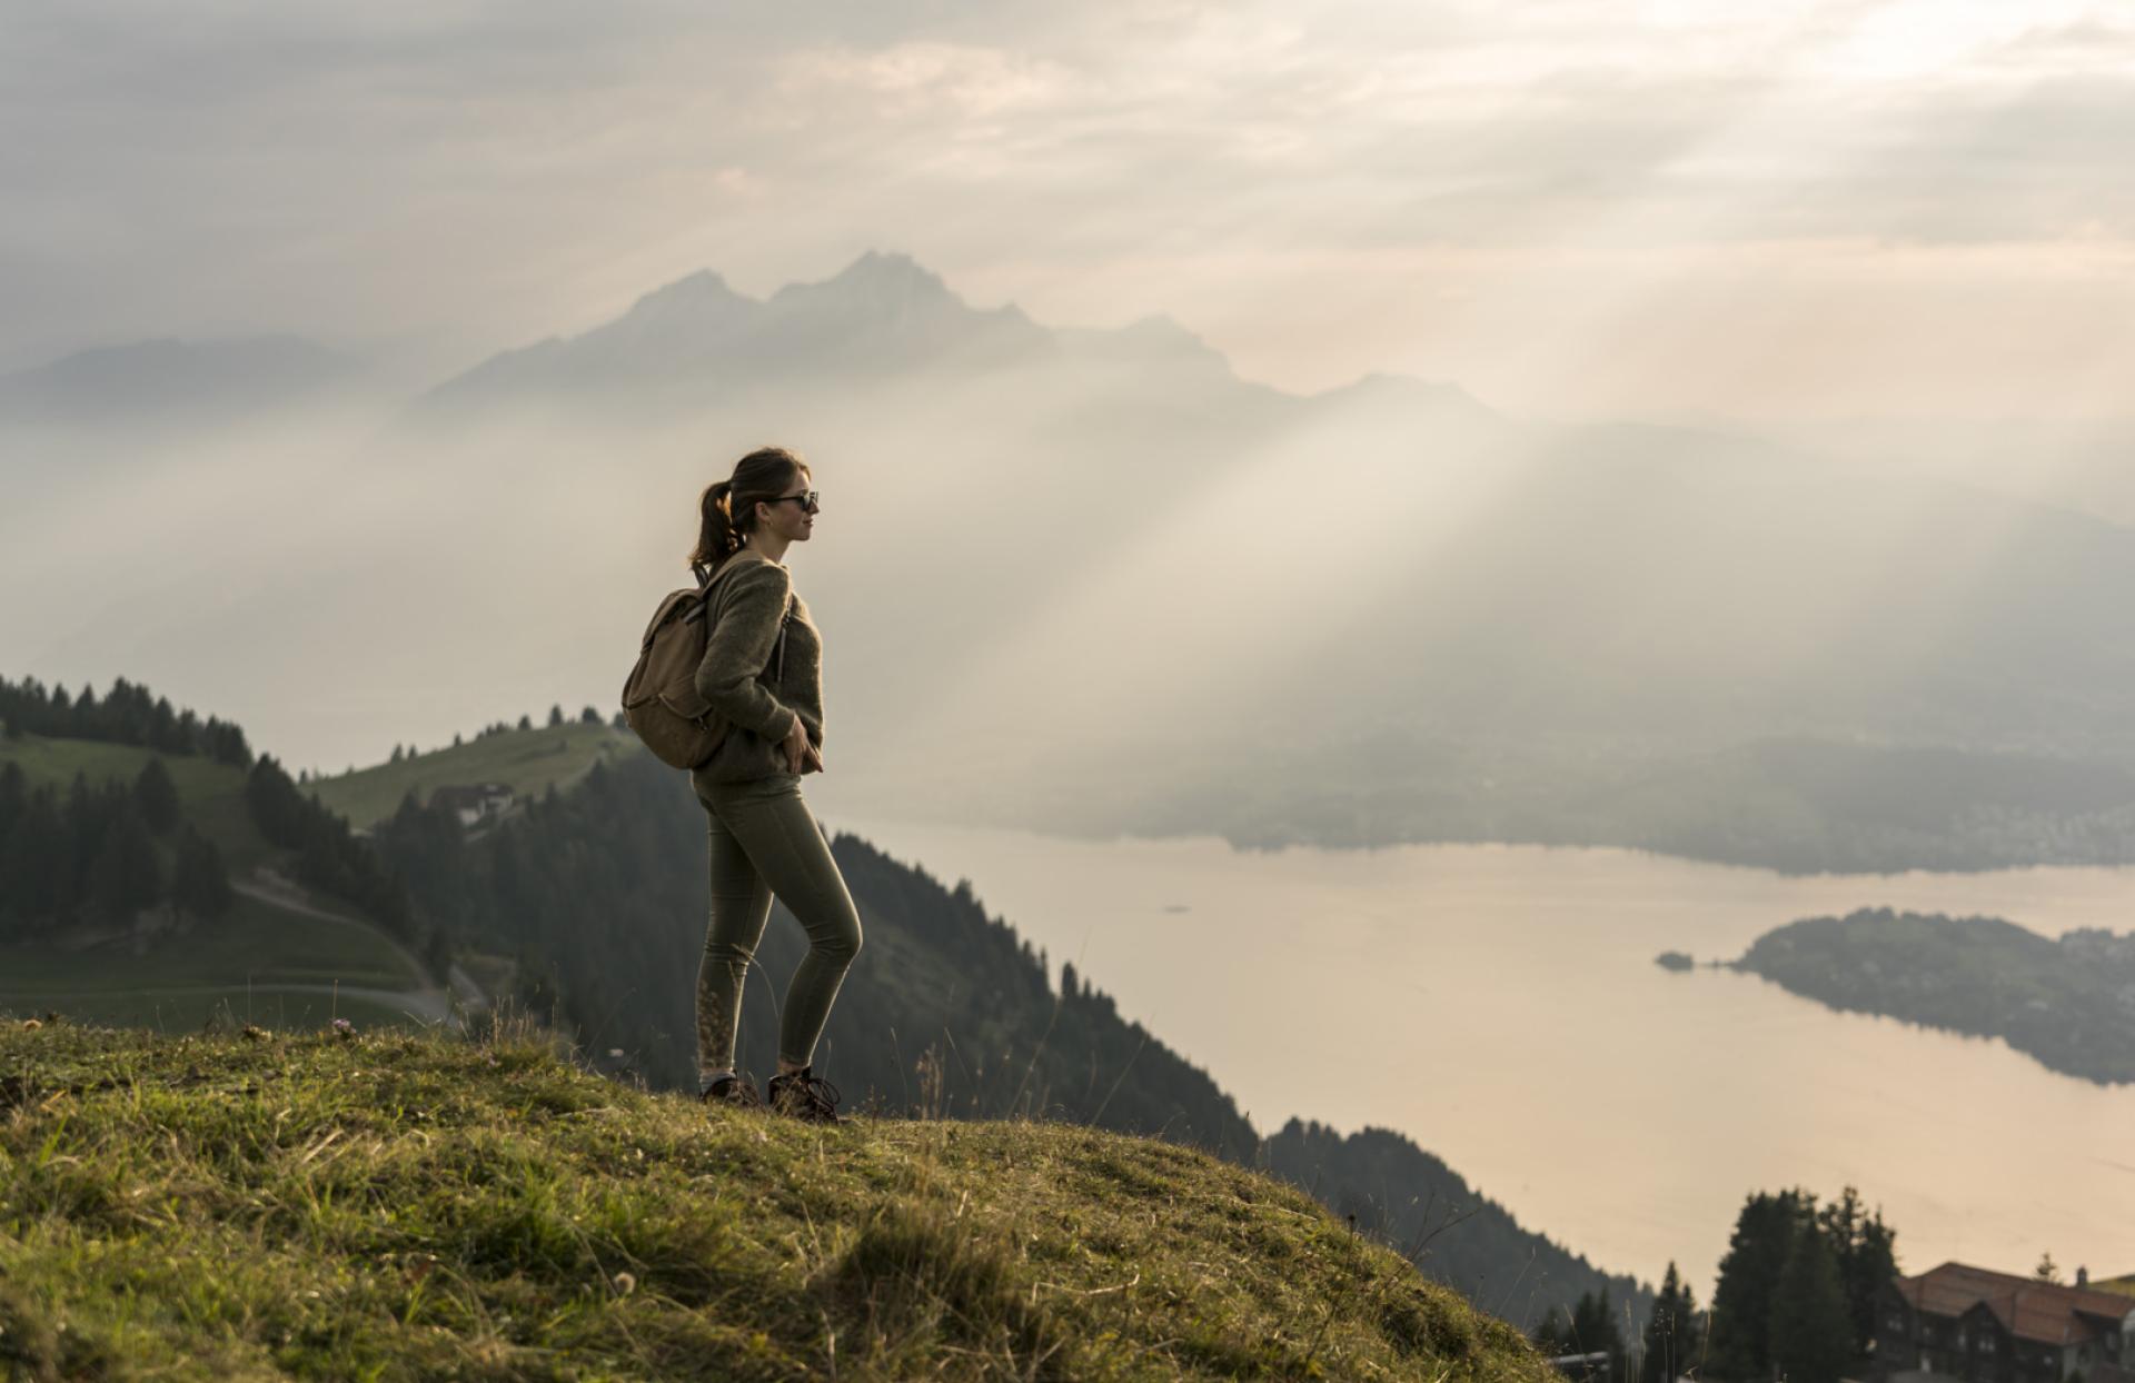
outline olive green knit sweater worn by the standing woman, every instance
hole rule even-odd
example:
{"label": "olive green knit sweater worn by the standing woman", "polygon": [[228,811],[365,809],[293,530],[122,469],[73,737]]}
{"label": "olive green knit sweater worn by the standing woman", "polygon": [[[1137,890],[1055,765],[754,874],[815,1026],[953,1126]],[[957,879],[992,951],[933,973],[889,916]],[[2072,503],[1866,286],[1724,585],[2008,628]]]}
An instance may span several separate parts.
{"label": "olive green knit sweater worn by the standing woman", "polygon": [[[728,572],[737,561],[743,566]],[[773,745],[792,732],[798,715],[809,743],[822,749],[822,634],[807,602],[792,593],[792,572],[749,549],[719,570],[726,574],[713,595],[705,662],[696,668],[698,694],[728,721]]]}

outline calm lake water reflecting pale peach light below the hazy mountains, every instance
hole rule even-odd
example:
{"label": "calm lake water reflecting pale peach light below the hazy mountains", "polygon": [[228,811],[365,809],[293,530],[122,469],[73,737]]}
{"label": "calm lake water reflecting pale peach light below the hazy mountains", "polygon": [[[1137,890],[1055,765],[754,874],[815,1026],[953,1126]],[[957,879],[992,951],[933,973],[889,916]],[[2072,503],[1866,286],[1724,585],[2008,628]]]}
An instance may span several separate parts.
{"label": "calm lake water reflecting pale peach light below the hazy mountains", "polygon": [[[1734,958],[1855,907],[2135,926],[2135,871],[1789,879],[1620,849],[1232,852],[820,811],[1074,960],[1262,1131],[1407,1133],[1522,1225],[1710,1304],[1742,1197],[1855,1185],[1898,1266],[2135,1272],[2135,1086],[2003,1042],[1834,1014]],[[1176,909],[1185,911],[1176,911]],[[865,958],[856,980],[865,982]]]}

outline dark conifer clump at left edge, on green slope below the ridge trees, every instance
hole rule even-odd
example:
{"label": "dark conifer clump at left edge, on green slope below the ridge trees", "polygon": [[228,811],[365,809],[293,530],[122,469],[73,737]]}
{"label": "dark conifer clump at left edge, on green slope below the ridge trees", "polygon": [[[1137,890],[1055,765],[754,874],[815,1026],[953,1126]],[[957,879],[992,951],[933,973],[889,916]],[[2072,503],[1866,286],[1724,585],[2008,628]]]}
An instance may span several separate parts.
{"label": "dark conifer clump at left edge, on green slope below the ridge trees", "polygon": [[162,758],[130,783],[77,773],[64,794],[0,764],[0,939],[124,924],[158,905],[220,918],[231,903],[222,852],[181,817]]}

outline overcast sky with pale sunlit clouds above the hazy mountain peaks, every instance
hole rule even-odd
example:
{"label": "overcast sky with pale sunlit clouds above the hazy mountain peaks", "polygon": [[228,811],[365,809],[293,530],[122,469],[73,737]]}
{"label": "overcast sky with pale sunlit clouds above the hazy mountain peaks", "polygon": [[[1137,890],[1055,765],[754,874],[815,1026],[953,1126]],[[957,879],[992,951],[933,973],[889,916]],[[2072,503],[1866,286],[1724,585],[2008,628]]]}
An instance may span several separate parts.
{"label": "overcast sky with pale sunlit clouds above the hazy mountain peaks", "polygon": [[11,0],[0,126],[0,369],[450,369],[884,248],[1294,391],[2131,412],[2126,0]]}

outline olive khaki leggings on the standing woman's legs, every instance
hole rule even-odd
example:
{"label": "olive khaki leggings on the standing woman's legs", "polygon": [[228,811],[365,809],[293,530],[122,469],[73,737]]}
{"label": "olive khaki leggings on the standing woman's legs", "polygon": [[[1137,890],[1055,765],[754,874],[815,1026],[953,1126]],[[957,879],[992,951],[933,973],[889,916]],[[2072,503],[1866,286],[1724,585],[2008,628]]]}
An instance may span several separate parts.
{"label": "olive khaki leggings on the standing woman's legs", "polygon": [[773,894],[809,939],[779,1005],[779,1059],[809,1065],[831,1001],[860,952],[860,911],[801,800],[798,773],[698,785],[696,794],[711,830],[711,926],[696,971],[698,1074],[734,1065],[741,984],[771,918]]}

